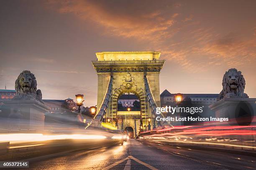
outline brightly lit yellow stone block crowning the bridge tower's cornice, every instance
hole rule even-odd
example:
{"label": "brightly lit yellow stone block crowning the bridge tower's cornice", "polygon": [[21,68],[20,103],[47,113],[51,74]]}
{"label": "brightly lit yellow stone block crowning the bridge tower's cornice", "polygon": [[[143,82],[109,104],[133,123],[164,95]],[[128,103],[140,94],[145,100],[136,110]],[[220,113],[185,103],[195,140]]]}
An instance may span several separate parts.
{"label": "brightly lit yellow stone block crowning the bridge tower's cornice", "polygon": [[159,60],[160,54],[154,51],[96,52],[98,61]]}

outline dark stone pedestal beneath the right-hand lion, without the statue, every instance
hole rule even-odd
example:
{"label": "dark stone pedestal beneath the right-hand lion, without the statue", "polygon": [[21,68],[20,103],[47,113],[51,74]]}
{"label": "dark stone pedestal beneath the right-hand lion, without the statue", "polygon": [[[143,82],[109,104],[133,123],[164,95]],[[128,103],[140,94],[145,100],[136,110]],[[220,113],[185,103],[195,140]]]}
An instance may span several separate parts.
{"label": "dark stone pedestal beneath the right-hand lion, without the statue", "polygon": [[215,111],[216,118],[229,118],[228,122],[217,122],[216,125],[246,126],[256,122],[256,98],[223,98],[209,108]]}

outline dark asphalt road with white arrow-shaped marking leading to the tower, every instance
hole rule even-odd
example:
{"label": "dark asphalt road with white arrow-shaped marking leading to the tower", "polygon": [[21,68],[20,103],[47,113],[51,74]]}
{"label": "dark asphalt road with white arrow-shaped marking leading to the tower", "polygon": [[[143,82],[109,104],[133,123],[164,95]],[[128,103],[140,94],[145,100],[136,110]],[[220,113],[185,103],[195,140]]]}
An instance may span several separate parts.
{"label": "dark asphalt road with white arrow-shaped marking leading to the tower", "polygon": [[253,170],[256,158],[140,140],[30,160],[24,170]]}

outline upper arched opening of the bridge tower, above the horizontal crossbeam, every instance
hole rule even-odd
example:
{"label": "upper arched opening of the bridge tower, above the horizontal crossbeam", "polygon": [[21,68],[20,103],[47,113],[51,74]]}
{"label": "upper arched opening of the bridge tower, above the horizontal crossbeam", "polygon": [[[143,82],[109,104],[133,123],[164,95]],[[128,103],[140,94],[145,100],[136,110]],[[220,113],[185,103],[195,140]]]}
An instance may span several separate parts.
{"label": "upper arched opening of the bridge tower, above the horizontal crossbeam", "polygon": [[118,111],[140,111],[141,102],[137,95],[124,93],[118,98]]}

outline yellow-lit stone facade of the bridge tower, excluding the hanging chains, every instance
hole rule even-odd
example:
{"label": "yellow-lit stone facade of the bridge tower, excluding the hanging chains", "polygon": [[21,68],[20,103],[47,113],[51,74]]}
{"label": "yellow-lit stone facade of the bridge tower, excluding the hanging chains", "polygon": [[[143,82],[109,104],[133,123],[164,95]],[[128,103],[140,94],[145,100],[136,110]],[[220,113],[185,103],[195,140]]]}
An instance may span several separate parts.
{"label": "yellow-lit stone facade of the bridge tower, excluding the hanging chains", "polygon": [[[97,52],[96,56],[97,61],[92,61],[92,64],[98,75],[97,106],[102,105],[110,76],[113,76],[111,112],[107,117],[118,121],[118,126],[121,127],[117,117],[118,98],[131,92],[141,102],[140,119],[143,125],[147,125],[146,119],[153,115],[148,110],[144,76],[148,78],[156,105],[160,106],[159,74],[164,65],[164,60],[159,60],[160,52]],[[128,117],[133,117],[132,112]],[[131,127],[134,128],[134,121],[131,121]]]}

